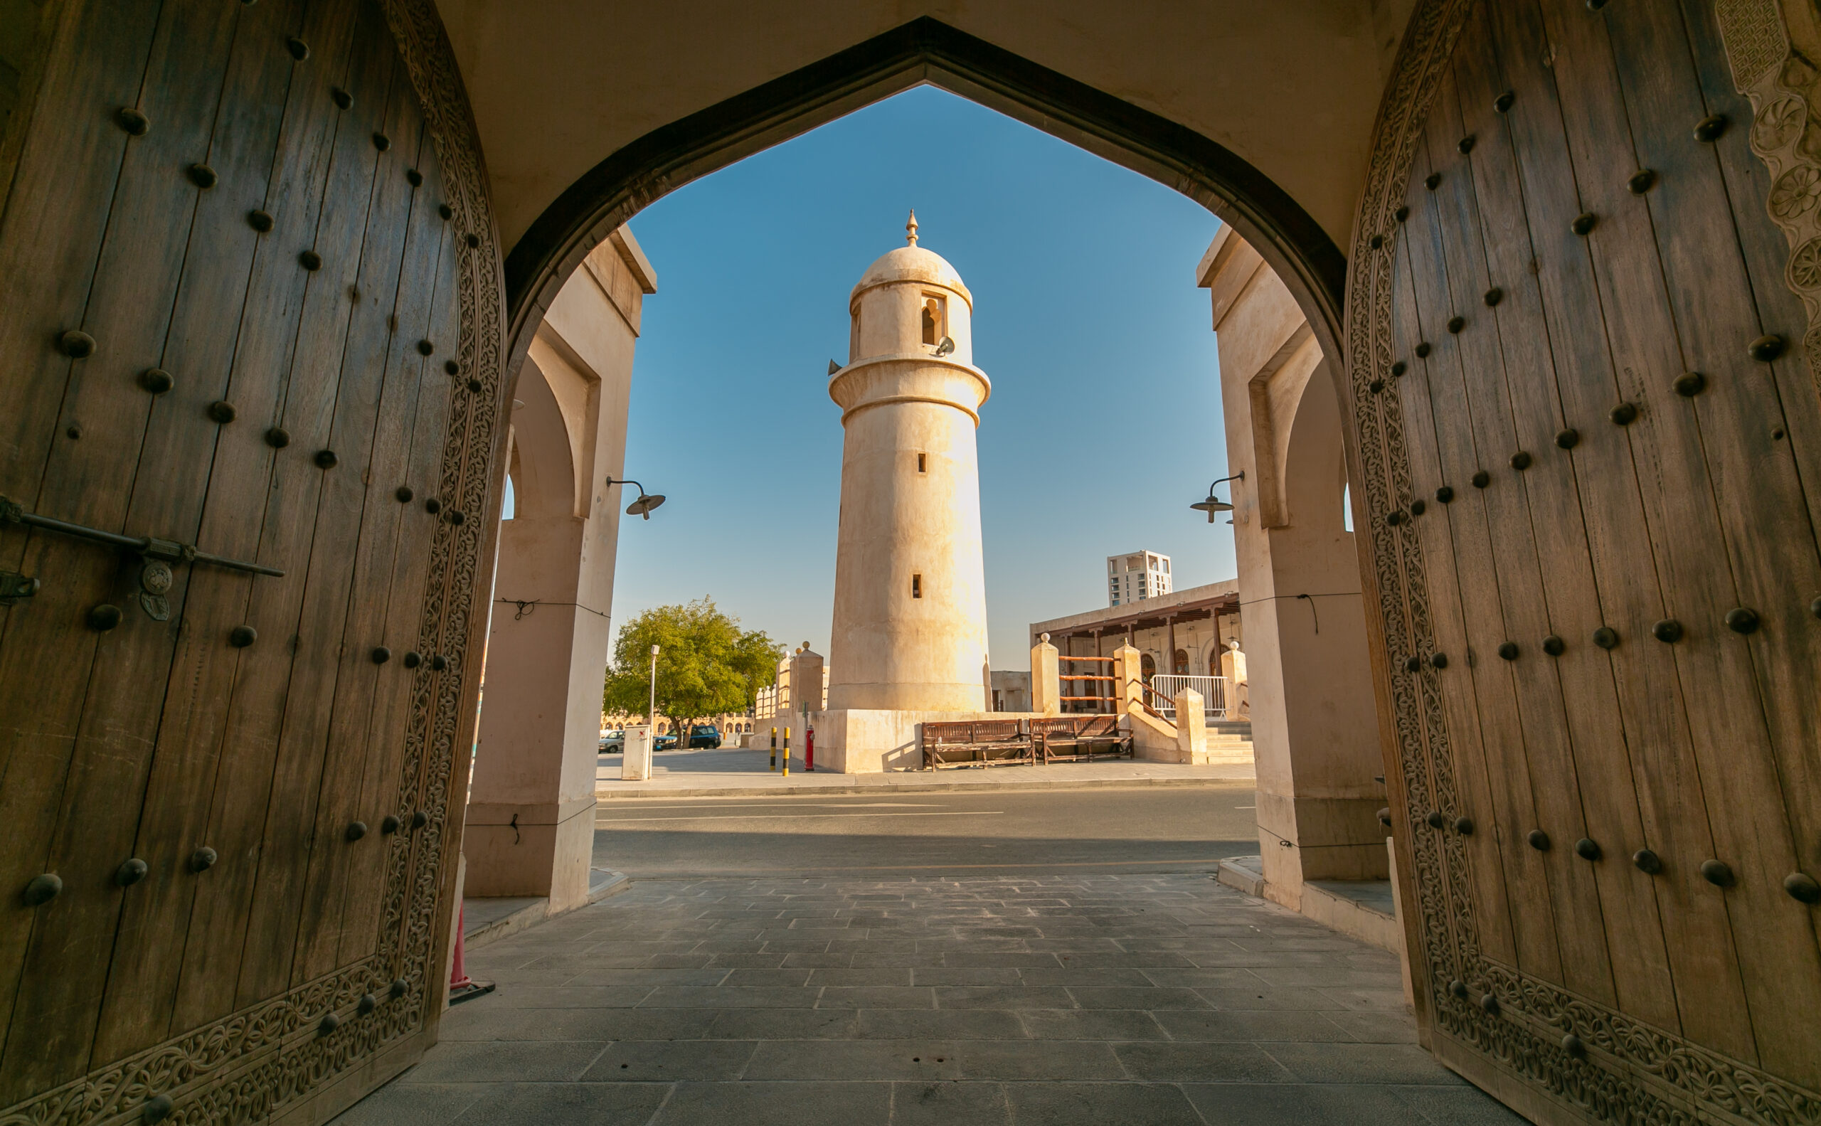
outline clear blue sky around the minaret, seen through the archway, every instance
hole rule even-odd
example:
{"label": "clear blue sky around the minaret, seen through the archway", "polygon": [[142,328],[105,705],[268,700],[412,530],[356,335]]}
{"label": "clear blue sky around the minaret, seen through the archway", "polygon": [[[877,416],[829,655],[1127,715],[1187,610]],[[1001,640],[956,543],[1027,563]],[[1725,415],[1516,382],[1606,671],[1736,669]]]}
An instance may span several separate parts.
{"label": "clear blue sky around the minaret, seen through the archway", "polygon": [[632,375],[612,618],[714,596],[748,629],[829,652],[847,295],[920,244],[974,295],[980,507],[994,669],[1031,621],[1107,605],[1105,556],[1231,578],[1233,534],[1189,503],[1226,476],[1193,200],[991,109],[920,87],[748,157],[632,220],[657,270]]}

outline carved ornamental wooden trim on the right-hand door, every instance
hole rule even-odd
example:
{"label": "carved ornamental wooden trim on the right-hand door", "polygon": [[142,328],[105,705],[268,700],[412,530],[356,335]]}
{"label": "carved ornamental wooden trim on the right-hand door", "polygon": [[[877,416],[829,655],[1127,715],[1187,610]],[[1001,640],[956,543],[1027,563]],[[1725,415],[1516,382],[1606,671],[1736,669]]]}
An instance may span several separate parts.
{"label": "carved ornamental wooden trim on the right-hand door", "polygon": [[[1348,275],[1348,399],[1389,696],[1380,714],[1389,718],[1397,747],[1400,844],[1415,862],[1408,906],[1420,949],[1411,951],[1411,973],[1422,982],[1431,1035],[1455,1040],[1577,1117],[1816,1126],[1821,1095],[1486,958],[1460,840],[1411,831],[1429,809],[1459,809],[1455,760],[1439,691],[1404,672],[1409,656],[1433,649],[1428,578],[1415,536],[1384,519],[1411,496],[1402,406],[1397,395],[1369,394],[1369,384],[1391,377],[1393,211],[1404,200],[1415,146],[1455,42],[1475,4],[1488,2],[1502,0],[1419,0],[1378,109]],[[1777,0],[1715,0],[1715,9],[1737,86],[1752,98],[1752,148],[1774,175],[1768,208],[1790,239],[1786,281],[1808,308],[1808,361],[1821,374],[1821,73],[1792,53]],[[1821,58],[1821,44],[1814,47],[1808,58]],[[1375,235],[1382,235],[1378,246]],[[1451,991],[1455,982],[1466,986],[1466,997]],[[1497,1002],[1491,1013],[1486,998]],[[1581,1051],[1564,1048],[1568,1033],[1581,1040]]]}

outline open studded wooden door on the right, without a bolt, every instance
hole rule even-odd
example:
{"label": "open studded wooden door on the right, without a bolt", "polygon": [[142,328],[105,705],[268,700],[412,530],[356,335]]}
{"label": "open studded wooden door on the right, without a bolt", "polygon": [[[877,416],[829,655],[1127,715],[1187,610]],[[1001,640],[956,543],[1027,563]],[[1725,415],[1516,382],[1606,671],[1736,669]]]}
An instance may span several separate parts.
{"label": "open studded wooden door on the right, without a bolt", "polygon": [[1349,281],[1428,1046],[1542,1122],[1821,1113],[1801,0],[1437,0]]}

